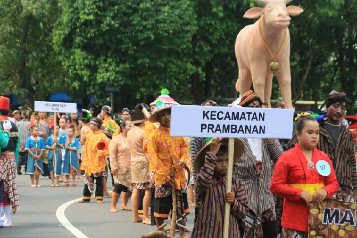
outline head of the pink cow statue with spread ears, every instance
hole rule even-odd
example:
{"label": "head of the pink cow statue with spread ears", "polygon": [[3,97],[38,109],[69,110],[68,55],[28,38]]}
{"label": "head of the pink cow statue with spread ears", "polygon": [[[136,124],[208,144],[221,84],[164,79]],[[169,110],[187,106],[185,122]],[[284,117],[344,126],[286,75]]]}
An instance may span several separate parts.
{"label": "head of the pink cow statue with spread ears", "polygon": [[268,28],[285,29],[290,25],[290,16],[300,15],[304,10],[298,6],[288,6],[286,4],[292,0],[252,0],[264,5],[249,9],[243,17],[256,19],[264,14],[264,21]]}

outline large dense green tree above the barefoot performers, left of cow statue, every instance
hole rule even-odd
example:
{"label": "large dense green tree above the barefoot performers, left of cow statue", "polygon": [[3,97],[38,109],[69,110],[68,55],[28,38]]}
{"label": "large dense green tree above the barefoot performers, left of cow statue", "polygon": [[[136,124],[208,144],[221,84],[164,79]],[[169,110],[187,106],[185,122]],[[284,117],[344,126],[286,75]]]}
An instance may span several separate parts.
{"label": "large dense green tree above the barefoot performers, left of cow statue", "polygon": [[54,30],[75,90],[100,98],[105,85],[120,87],[119,105],[159,94],[185,92],[191,75],[187,52],[196,30],[188,0],[72,0]]}

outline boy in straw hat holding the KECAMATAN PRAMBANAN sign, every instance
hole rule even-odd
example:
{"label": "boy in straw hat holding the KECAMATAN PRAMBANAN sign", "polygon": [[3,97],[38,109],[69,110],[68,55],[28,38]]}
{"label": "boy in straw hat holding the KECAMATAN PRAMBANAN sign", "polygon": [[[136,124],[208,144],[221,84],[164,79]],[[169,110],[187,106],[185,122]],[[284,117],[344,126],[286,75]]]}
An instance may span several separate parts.
{"label": "boy in straw hat holding the KECAMATAN PRAMBANAN sign", "polygon": [[[235,139],[233,163],[240,159],[243,151],[243,142]],[[194,189],[201,208],[191,238],[223,237],[225,202],[231,204],[228,237],[241,237],[239,221],[247,214],[248,201],[244,188],[236,177],[230,178],[232,192],[226,192],[227,164],[227,138],[213,138],[195,157],[193,166],[198,176]]]}

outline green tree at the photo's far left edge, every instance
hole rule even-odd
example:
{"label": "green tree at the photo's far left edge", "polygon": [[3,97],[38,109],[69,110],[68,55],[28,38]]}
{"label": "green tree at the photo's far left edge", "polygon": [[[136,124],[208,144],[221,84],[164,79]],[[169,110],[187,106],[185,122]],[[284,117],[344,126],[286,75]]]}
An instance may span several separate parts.
{"label": "green tree at the photo's far left edge", "polygon": [[52,46],[60,15],[58,1],[0,1],[0,91],[45,100],[65,88],[61,62]]}

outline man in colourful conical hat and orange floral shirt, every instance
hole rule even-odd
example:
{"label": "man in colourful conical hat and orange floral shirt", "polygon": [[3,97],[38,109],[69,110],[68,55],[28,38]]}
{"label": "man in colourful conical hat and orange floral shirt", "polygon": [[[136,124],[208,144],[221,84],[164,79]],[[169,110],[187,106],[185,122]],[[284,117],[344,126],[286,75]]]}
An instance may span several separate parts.
{"label": "man in colourful conical hat and orange floral shirt", "polygon": [[[171,107],[176,103],[156,102],[155,110],[149,118],[150,122],[159,122],[160,127],[150,134],[147,151],[149,161],[155,171],[155,198],[154,216],[156,226],[164,223],[164,219],[169,217],[172,208],[171,186],[175,186],[177,221],[179,226],[180,238],[187,237],[185,234],[186,214],[188,214],[187,196],[181,189],[186,186],[184,173],[185,162],[187,159],[187,145],[182,137],[171,137]],[[179,162],[175,160],[178,158]],[[175,166],[175,179],[170,179],[171,166]],[[152,208],[151,208],[152,209]]]}

